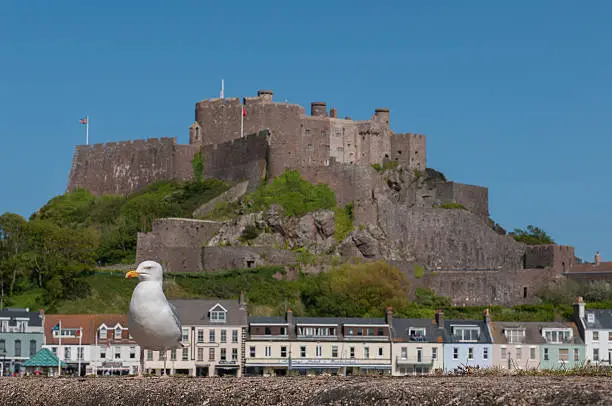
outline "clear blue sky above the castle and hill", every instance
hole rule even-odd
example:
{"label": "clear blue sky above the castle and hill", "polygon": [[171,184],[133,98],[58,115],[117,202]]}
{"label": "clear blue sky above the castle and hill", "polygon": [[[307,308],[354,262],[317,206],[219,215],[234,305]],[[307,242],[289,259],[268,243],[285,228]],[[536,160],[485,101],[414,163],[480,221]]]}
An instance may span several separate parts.
{"label": "clear blue sky above the castle and hill", "polygon": [[611,20],[603,0],[3,0],[0,213],[64,192],[80,117],[91,142],[186,143],[224,78],[226,96],[388,107],[504,227],[610,258]]}

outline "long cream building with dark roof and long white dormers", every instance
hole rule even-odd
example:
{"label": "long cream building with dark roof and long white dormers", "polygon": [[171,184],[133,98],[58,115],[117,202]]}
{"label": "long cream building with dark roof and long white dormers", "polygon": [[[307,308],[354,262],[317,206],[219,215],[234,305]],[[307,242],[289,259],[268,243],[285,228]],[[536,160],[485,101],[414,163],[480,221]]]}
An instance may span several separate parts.
{"label": "long cream building with dark roof and long white dormers", "polygon": [[392,317],[250,317],[245,372],[390,374]]}

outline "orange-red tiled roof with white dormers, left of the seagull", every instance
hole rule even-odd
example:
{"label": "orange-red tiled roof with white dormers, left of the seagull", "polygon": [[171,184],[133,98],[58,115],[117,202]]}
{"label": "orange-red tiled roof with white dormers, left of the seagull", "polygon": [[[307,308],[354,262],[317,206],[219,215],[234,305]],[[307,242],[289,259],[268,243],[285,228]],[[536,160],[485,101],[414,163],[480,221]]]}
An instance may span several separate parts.
{"label": "orange-red tiled roof with white dormers, left of the seagull", "polygon": [[[125,314],[46,314],[44,321],[45,342],[47,344],[57,344],[58,339],[53,337],[53,327],[62,321],[62,329],[78,329],[83,328],[83,344],[93,344],[96,342],[96,334],[98,328],[104,324],[107,328],[115,328],[117,324],[123,328],[121,340],[116,340],[114,334],[108,335],[111,342],[125,341],[125,343],[134,343],[129,340],[128,318]],[[62,343],[78,343],[78,338],[62,337]],[[106,342],[106,340],[98,340]]]}

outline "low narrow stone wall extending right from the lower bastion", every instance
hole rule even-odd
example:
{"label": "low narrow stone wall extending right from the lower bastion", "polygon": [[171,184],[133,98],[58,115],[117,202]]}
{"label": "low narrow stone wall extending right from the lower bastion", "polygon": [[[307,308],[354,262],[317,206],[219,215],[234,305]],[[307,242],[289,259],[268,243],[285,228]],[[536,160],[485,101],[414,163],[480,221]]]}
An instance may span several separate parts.
{"label": "low narrow stone wall extending right from the lower bastion", "polygon": [[271,247],[202,247],[204,271],[255,268],[264,265],[290,265],[295,253]]}

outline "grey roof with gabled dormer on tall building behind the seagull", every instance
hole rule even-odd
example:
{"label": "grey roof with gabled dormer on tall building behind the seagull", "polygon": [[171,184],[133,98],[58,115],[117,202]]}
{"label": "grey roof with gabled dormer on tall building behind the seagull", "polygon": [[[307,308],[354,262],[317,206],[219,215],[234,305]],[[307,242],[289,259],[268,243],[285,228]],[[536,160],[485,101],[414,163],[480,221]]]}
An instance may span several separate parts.
{"label": "grey roof with gabled dormer on tall building behind the seagull", "polygon": [[247,324],[246,308],[240,309],[240,303],[238,300],[181,299],[170,300],[170,303],[176,306],[179,319],[181,320],[181,324],[184,326],[218,326],[220,323],[211,322],[208,314],[208,312],[218,304],[227,310],[227,322],[224,324],[240,326],[246,326]]}

